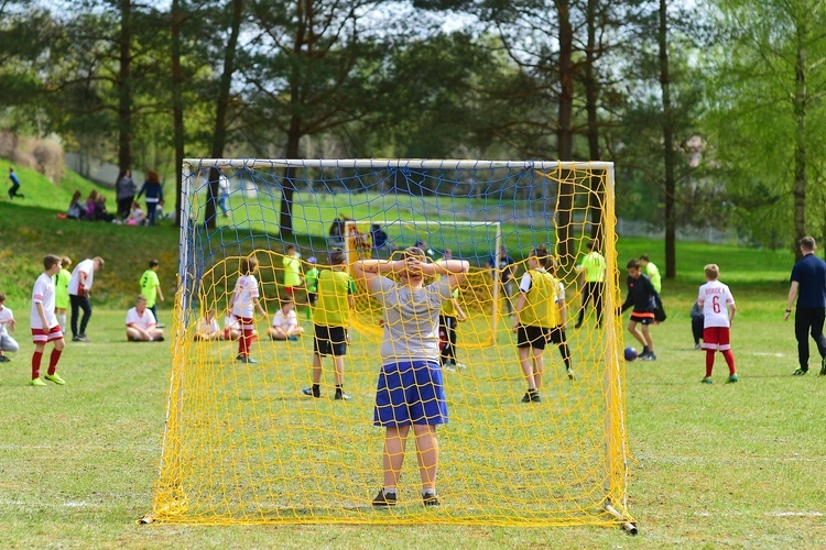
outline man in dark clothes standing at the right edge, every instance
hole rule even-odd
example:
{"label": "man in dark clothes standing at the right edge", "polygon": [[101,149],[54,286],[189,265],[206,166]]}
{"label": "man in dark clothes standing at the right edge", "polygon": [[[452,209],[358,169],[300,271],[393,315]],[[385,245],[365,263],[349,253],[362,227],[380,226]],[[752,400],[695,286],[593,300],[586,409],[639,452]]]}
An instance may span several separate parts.
{"label": "man in dark clothes standing at the right edge", "polygon": [[826,376],[826,337],[823,323],[826,318],[826,262],[815,255],[817,244],[814,238],[804,237],[800,242],[803,260],[792,268],[792,284],[784,320],[789,320],[794,300],[794,336],[797,339],[797,361],[800,367],[792,373],[802,376],[808,373],[808,334],[812,334],[820,353],[820,375]]}

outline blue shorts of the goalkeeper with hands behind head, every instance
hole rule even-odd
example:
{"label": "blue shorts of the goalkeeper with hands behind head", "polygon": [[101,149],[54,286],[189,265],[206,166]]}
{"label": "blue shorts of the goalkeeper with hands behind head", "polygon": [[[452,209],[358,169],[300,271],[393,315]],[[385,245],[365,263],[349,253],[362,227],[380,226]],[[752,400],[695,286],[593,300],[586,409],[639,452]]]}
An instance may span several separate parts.
{"label": "blue shorts of the goalkeeper with hands behind head", "polygon": [[381,367],[373,425],[447,424],[447,402],[438,361],[400,361]]}

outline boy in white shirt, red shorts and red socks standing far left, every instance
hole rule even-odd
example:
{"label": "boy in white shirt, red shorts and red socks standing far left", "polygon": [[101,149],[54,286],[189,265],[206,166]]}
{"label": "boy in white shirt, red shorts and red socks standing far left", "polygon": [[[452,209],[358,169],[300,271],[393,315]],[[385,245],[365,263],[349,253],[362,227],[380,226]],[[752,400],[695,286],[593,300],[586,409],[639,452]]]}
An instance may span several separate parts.
{"label": "boy in white shirt, red shorts and red socks standing far left", "polygon": [[[54,254],[46,254],[43,257],[43,273],[34,282],[32,288],[32,311],[30,324],[32,327],[32,341],[34,342],[34,353],[32,354],[32,386],[45,386],[43,378],[63,385],[66,383],[57,374],[57,362],[63,353],[63,332],[57,317],[54,315],[54,280],[52,277],[61,271],[61,258]],[[46,343],[54,342],[52,355],[48,358],[48,371],[40,377],[40,365],[43,360],[43,352]]]}

